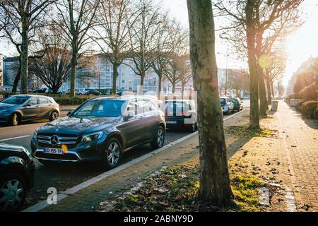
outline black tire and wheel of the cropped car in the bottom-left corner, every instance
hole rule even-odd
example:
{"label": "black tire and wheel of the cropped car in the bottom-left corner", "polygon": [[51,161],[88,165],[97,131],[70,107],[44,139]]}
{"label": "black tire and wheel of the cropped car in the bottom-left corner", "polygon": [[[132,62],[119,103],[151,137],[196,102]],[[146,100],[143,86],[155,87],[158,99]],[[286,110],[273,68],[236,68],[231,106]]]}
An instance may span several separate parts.
{"label": "black tire and wheel of the cropped car in the bottom-left corner", "polygon": [[[10,187],[9,187],[10,186]],[[8,191],[5,193],[4,191]],[[7,174],[0,178],[0,212],[19,211],[22,209],[27,193],[25,179],[19,174]]]}

